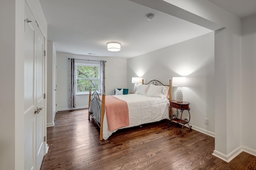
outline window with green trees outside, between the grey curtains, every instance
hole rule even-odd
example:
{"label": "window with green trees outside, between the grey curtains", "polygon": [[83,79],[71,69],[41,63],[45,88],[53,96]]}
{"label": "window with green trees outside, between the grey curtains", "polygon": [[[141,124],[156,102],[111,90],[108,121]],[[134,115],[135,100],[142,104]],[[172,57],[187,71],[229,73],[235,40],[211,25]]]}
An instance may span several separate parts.
{"label": "window with green trees outside, between the grey curtains", "polygon": [[100,91],[100,64],[76,64],[76,94]]}

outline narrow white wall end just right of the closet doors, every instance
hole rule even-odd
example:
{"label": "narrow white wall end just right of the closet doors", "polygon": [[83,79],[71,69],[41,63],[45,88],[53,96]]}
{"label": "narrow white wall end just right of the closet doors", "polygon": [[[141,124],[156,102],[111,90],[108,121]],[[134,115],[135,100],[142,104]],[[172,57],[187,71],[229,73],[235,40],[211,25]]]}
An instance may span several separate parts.
{"label": "narrow white wall end just right of the closet doors", "polygon": [[54,93],[54,54],[56,50],[52,41],[47,41],[47,127],[54,125],[54,104],[53,104],[53,93]]}

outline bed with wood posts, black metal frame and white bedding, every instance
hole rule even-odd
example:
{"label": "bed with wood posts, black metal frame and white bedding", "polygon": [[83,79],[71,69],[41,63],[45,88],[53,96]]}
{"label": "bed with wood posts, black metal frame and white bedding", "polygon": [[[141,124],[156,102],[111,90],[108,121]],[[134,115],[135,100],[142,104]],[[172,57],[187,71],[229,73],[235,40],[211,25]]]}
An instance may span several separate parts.
{"label": "bed with wood posts, black metal frame and white bedding", "polygon": [[[135,127],[169,118],[172,80],[164,85],[158,80],[138,86],[135,94],[99,96],[90,90],[88,119],[100,127],[100,140],[118,129]],[[118,116],[119,115],[119,116]]]}

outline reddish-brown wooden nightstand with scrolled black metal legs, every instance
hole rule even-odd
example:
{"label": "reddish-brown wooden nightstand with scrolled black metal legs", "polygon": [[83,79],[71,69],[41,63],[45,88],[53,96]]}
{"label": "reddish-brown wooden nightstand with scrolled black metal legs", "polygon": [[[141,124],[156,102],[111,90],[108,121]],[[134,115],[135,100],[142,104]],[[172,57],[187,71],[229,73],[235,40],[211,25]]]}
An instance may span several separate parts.
{"label": "reddish-brown wooden nightstand with scrolled black metal legs", "polygon": [[[172,121],[175,121],[179,124],[182,124],[182,128],[180,129],[180,131],[183,130],[184,125],[188,124],[190,121],[190,107],[189,107],[190,103],[189,102],[177,102],[176,100],[170,100],[170,112],[169,112],[169,117],[171,119],[170,123],[168,123],[168,127],[170,127],[170,124],[172,123]],[[176,114],[172,113],[171,115],[171,109],[175,108],[176,109]],[[178,119],[178,109],[180,110],[180,119]],[[186,117],[185,119],[182,119],[182,113],[184,110],[188,111],[188,117]],[[188,127],[192,128],[192,126],[190,126],[188,124]]]}

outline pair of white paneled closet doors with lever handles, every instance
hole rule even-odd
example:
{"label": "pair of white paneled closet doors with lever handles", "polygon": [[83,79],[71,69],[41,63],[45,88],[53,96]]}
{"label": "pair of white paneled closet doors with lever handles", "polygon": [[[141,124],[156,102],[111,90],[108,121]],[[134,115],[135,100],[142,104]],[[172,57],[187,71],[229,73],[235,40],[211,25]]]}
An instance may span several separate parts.
{"label": "pair of white paneled closet doors with lever handles", "polygon": [[40,170],[45,126],[44,37],[27,5],[25,20],[28,21],[24,22],[24,169]]}

